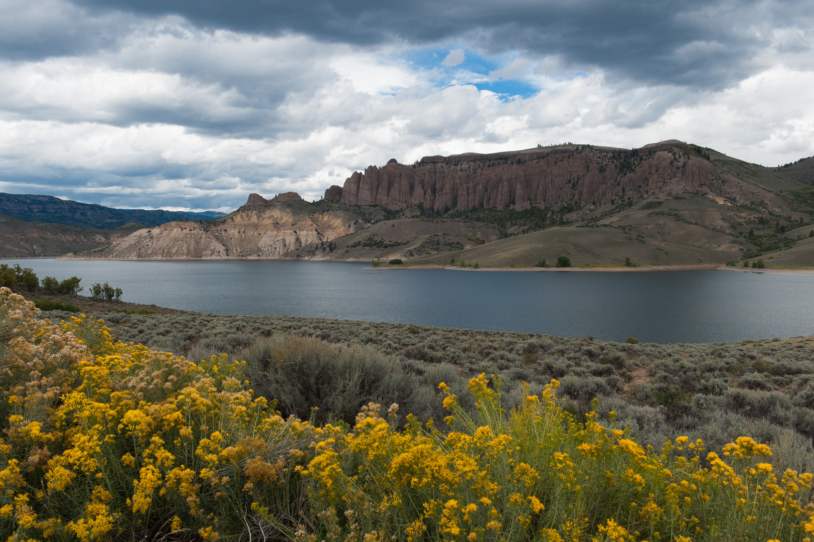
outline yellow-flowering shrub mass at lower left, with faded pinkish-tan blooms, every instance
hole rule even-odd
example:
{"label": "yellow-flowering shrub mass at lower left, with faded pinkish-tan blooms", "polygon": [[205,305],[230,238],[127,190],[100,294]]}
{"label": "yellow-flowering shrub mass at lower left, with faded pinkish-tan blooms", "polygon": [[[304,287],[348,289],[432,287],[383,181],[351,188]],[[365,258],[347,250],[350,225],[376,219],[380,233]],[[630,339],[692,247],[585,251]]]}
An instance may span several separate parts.
{"label": "yellow-flowering shrub mass at lower left, with faded pinkish-tan blooms", "polygon": [[37,314],[0,290],[14,326],[0,373],[0,539],[291,531],[273,513],[300,513],[295,467],[321,437],[253,398],[242,364],[193,364],[114,342],[85,315]]}

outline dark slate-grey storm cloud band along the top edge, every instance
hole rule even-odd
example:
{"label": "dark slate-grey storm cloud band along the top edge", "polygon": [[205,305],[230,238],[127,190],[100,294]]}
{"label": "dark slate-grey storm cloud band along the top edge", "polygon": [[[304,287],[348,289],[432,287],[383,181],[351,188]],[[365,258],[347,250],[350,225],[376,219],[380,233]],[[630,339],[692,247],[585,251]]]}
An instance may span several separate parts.
{"label": "dark slate-grey storm cloud band along the top edge", "polygon": [[208,29],[304,33],[360,46],[461,39],[490,53],[560,55],[647,84],[719,88],[754,71],[773,29],[811,28],[814,2],[77,0],[99,13],[182,15]]}

